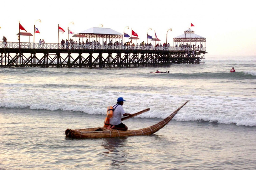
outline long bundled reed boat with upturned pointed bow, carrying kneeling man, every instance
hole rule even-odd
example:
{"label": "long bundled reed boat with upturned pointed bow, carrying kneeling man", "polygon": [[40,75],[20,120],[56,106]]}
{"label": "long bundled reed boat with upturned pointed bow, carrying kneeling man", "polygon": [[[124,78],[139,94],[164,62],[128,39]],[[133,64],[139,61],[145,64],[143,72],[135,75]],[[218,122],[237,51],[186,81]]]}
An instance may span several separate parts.
{"label": "long bundled reed boat with upturned pointed bow, carrying kneeling man", "polygon": [[[188,101],[187,101],[188,102]],[[86,128],[86,129],[66,129],[65,134],[66,137],[69,138],[110,138],[110,137],[123,137],[123,136],[139,136],[139,135],[150,135],[154,134],[164,126],[166,126],[172,118],[179,112],[179,110],[187,104],[184,103],[181,107],[179,107],[177,110],[175,110],[171,115],[169,115],[167,118],[162,120],[161,122],[158,122],[157,124],[142,128],[138,130],[116,130],[116,129],[107,129],[104,127],[98,127],[98,128]]]}

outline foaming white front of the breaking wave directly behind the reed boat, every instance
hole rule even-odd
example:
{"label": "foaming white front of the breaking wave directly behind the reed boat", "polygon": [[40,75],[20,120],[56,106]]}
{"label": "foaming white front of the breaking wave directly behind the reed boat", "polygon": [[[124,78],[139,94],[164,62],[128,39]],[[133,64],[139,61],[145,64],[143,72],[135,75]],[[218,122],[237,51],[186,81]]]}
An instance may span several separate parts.
{"label": "foaming white front of the breaking wave directly behind the reed boat", "polygon": [[[93,106],[79,106],[79,105],[67,105],[67,104],[25,104],[25,103],[12,103],[5,102],[0,103],[0,107],[3,108],[29,108],[34,110],[49,110],[49,111],[70,111],[70,112],[83,112],[89,115],[106,115],[107,108],[95,108]],[[137,111],[127,110],[128,112],[135,113]],[[75,113],[74,113],[75,114]],[[171,114],[171,111],[164,110],[150,110],[144,114],[137,116],[137,118],[161,118],[164,119]],[[220,124],[236,124],[237,126],[256,126],[256,117],[254,116],[243,116],[243,115],[213,115],[213,114],[198,114],[198,111],[189,111],[189,109],[184,108],[177,114],[173,120],[176,121],[208,121],[217,122]]]}

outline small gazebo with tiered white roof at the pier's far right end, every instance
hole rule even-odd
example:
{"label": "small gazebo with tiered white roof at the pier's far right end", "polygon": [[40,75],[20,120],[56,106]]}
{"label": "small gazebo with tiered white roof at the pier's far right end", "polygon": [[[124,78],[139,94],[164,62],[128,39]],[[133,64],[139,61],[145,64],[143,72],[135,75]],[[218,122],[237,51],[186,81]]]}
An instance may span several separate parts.
{"label": "small gazebo with tiered white roof at the pier's far right end", "polygon": [[173,43],[178,46],[180,44],[190,44],[190,46],[195,44],[195,46],[199,45],[200,47],[202,44],[203,47],[206,47],[206,38],[195,34],[195,31],[189,29],[184,31],[184,34],[173,38]]}

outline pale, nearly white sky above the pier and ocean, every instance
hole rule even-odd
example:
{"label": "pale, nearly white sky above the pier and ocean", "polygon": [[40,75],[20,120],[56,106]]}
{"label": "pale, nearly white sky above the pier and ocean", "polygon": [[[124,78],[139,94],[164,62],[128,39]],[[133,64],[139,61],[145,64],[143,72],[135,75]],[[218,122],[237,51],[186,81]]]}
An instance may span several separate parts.
{"label": "pale, nearly white sky above the pier and ocean", "polygon": [[[20,21],[31,34],[34,25],[39,29],[40,34],[35,34],[35,42],[44,39],[46,43],[57,43],[58,24],[66,31],[60,33],[60,41],[67,39],[67,27],[79,33],[102,24],[119,33],[125,31],[130,36],[132,28],[140,38],[138,43],[147,41],[147,31],[152,28],[148,34],[154,36],[155,30],[161,40],[159,43],[163,44],[166,42],[166,32],[171,28],[168,42],[172,46],[173,38],[184,34],[192,23],[195,27],[191,29],[195,34],[206,38],[206,57],[255,56],[254,11],[255,2],[252,0],[8,0],[1,1],[0,41],[5,36],[8,42],[18,42],[16,34]],[[37,21],[39,19],[41,23]],[[23,36],[21,42],[29,42],[29,38]],[[30,42],[33,42],[33,37]]]}

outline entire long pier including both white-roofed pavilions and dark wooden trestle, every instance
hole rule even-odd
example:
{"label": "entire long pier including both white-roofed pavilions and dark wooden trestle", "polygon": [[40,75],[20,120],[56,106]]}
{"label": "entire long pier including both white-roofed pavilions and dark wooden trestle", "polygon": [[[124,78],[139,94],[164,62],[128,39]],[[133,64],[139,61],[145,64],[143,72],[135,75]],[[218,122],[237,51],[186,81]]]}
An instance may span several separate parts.
{"label": "entire long pier including both white-roofed pavilions and dark wooden trestle", "polygon": [[[131,37],[131,43],[120,43],[123,35],[109,28],[93,27],[73,37],[89,38],[89,41],[87,39],[86,43],[0,42],[0,66],[102,68],[200,64],[204,63],[207,53],[206,38],[194,34],[192,30],[186,30],[183,35],[174,38],[175,46],[170,46],[169,43],[163,46],[156,44],[156,39],[152,39],[155,46],[151,43],[135,45],[132,43],[134,37]],[[115,43],[112,43],[114,40]]]}

